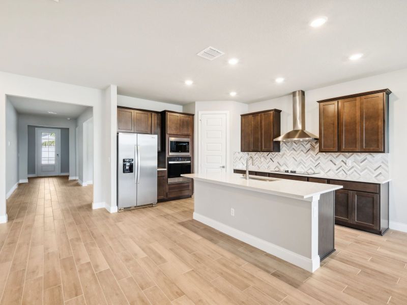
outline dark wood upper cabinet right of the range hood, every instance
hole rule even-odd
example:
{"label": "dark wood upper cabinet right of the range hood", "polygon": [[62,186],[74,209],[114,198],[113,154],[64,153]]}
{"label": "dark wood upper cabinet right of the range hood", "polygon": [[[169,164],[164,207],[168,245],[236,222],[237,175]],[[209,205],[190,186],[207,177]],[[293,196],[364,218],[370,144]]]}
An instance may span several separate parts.
{"label": "dark wood upper cabinet right of the range hood", "polygon": [[383,89],[318,101],[319,151],[388,153],[390,94]]}

